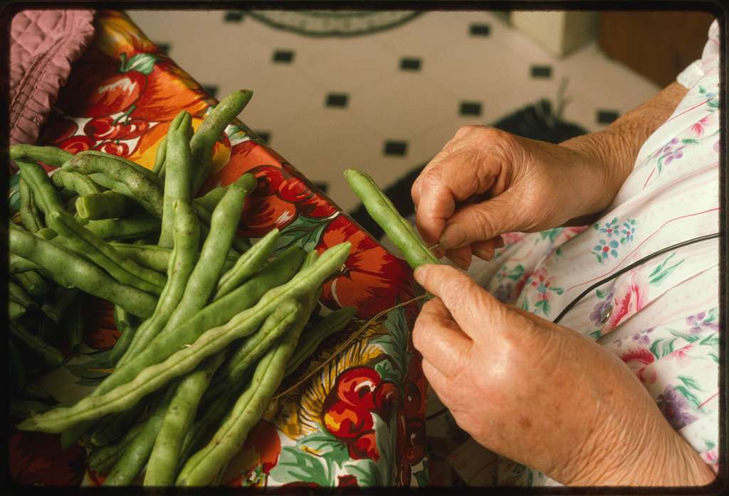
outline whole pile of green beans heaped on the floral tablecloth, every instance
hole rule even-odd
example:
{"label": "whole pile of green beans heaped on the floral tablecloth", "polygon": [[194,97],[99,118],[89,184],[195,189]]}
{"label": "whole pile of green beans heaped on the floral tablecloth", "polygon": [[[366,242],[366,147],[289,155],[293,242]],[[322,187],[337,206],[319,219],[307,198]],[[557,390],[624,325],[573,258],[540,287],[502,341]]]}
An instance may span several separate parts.
{"label": "whole pile of green beans heaped on the floral tablecloth", "polygon": [[[152,170],[98,151],[10,148],[21,200],[9,231],[11,412],[20,430],[82,440],[106,485],[215,484],[284,377],[354,316],[311,319],[349,243],[274,257],[278,230],[252,246],[238,238],[250,174],[196,196],[250,97],[228,96],[197,132],[181,112]],[[57,167],[50,177],[41,162]],[[63,364],[58,345],[82,345],[86,295],[114,304],[114,369],[54,404],[32,380]]]}

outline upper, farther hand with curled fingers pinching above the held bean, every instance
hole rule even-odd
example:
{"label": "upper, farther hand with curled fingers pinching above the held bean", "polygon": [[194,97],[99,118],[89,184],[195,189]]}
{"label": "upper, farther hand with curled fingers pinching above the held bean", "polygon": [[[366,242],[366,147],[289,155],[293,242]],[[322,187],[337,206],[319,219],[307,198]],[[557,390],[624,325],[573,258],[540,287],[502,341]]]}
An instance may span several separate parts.
{"label": "upper, farther hand with curled fingers pinching above the held bean", "polygon": [[[627,172],[606,167],[577,140],[554,145],[461,127],[413,184],[424,241],[439,242],[468,268],[472,255],[491,260],[502,233],[543,231],[606,209]],[[486,199],[459,208],[474,196]]]}

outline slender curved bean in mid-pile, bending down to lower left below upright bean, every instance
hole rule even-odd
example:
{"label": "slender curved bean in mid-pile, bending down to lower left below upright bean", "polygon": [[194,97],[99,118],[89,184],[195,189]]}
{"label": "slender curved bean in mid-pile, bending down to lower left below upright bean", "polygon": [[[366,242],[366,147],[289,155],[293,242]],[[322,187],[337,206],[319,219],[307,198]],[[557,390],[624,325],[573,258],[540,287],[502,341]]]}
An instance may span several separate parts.
{"label": "slender curved bean in mid-pile, bending down to lower left below upright bean", "polygon": [[117,362],[117,367],[122,367],[128,359],[136,356],[139,351],[152,342],[152,340],[164,329],[168,319],[174,316],[178,305],[184,302],[184,293],[190,284],[191,274],[194,273],[195,262],[198,260],[198,236],[200,229],[198,220],[192,214],[189,205],[183,200],[176,200],[173,206],[175,210],[174,220],[174,248],[169,257],[167,273],[169,277],[167,284],[157,300],[157,307],[152,317],[142,322],[136,330],[132,343],[128,350]]}

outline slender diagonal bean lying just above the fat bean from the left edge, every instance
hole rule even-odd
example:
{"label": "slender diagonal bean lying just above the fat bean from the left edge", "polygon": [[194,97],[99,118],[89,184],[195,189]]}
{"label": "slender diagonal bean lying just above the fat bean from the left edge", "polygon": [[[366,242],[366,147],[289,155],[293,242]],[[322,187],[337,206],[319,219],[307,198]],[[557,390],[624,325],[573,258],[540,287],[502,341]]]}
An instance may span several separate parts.
{"label": "slender diagonal bean lying just above the fat bean from the left edge", "polygon": [[143,268],[117,252],[111,244],[76,222],[66,212],[51,212],[48,225],[66,238],[69,245],[85,252],[91,260],[103,267],[120,282],[142,291],[159,295],[165,285],[163,274]]}

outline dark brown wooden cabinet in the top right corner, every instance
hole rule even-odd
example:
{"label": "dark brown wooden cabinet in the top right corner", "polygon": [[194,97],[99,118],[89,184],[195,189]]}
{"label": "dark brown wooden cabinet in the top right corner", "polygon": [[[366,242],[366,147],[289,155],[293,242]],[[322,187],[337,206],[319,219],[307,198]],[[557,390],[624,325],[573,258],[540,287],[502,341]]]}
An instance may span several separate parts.
{"label": "dark brown wooden cabinet in the top right corner", "polygon": [[676,80],[701,57],[709,25],[708,12],[601,12],[599,47],[661,86]]}

